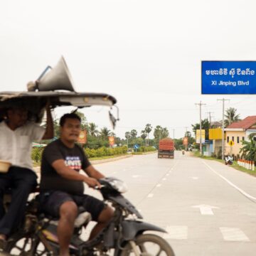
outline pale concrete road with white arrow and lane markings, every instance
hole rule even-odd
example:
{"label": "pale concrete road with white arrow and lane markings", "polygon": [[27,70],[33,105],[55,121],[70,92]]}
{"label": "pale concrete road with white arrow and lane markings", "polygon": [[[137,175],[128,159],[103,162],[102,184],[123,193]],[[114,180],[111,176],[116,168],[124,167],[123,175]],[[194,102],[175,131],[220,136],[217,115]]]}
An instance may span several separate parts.
{"label": "pale concrete road with white arrow and lane markings", "polygon": [[127,198],[146,221],[169,231],[164,238],[176,255],[256,255],[255,177],[180,152],[95,167],[126,181]]}

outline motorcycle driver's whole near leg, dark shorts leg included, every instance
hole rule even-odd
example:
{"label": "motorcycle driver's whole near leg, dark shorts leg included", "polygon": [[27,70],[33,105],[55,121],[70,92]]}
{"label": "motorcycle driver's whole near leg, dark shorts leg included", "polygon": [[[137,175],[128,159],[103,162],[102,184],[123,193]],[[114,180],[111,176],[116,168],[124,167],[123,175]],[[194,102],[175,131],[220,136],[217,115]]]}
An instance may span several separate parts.
{"label": "motorcycle driver's whole near leg, dark shorts leg included", "polygon": [[78,206],[68,193],[62,191],[46,192],[41,195],[41,198],[42,210],[53,217],[60,218],[57,228],[60,256],[68,256]]}

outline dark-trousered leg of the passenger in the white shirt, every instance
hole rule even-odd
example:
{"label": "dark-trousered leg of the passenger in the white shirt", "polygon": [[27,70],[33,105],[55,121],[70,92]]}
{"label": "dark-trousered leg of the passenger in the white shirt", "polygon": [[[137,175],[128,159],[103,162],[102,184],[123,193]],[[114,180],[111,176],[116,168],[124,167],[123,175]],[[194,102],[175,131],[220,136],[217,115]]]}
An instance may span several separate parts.
{"label": "dark-trousered leg of the passenger in the white shirt", "polygon": [[28,169],[11,167],[9,175],[11,175],[11,203],[0,222],[0,234],[7,236],[21,223],[28,195],[37,184],[36,174]]}

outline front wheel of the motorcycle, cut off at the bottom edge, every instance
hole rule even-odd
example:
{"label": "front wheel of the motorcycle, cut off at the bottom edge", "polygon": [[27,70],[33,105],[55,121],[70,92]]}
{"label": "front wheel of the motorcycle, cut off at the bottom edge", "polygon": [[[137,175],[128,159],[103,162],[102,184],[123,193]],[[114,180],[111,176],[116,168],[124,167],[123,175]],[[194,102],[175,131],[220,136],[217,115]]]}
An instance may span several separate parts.
{"label": "front wheel of the motorcycle, cut off at the bottom edge", "polygon": [[[134,242],[137,252],[141,256],[174,256],[174,251],[171,249],[169,243],[158,235],[139,235]],[[120,255],[137,256],[129,242],[124,246],[124,250],[122,250]]]}

